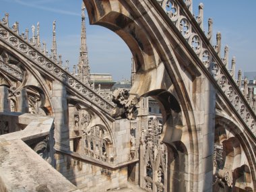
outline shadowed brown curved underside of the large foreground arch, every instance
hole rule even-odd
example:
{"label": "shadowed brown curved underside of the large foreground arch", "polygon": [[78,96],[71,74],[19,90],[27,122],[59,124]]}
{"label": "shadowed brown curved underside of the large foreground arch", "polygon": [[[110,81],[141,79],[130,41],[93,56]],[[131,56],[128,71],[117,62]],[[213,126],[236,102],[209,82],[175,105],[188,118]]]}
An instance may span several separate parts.
{"label": "shadowed brown curved underside of the large foreground arch", "polygon": [[[96,18],[100,18],[98,25],[104,26],[116,34],[118,34],[129,46],[133,58],[135,61],[136,71],[146,71],[150,68],[156,67],[156,61],[154,58],[154,49],[148,38],[148,33],[142,32],[141,27],[134,22],[134,18],[127,14],[127,12],[121,10],[121,7],[117,7],[117,10],[111,10],[114,7],[110,5],[109,1],[104,2],[104,9],[111,10],[107,14],[94,11],[97,10],[97,3],[84,2],[88,8],[88,15],[90,22],[96,22]],[[94,18],[91,18],[93,16]],[[146,65],[150,63],[150,65]]]}

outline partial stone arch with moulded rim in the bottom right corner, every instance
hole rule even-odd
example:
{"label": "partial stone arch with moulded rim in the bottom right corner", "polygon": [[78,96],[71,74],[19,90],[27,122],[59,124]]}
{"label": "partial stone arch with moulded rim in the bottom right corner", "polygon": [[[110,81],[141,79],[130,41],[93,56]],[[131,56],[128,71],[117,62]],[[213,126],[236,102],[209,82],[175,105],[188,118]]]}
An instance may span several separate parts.
{"label": "partial stone arch with moulded rim in the bottom right corner", "polygon": [[[216,112],[216,125],[216,130],[222,129],[219,133],[225,135],[225,138],[222,137],[224,158],[224,165],[222,166],[224,171],[222,174],[224,175],[224,172],[226,171],[232,171],[230,177],[232,178],[231,188],[228,188],[226,185],[222,185],[222,190],[254,190],[255,158],[253,155],[253,149],[251,148],[251,138],[247,137],[248,135],[243,133],[241,130],[241,127],[243,126],[238,125],[238,123],[228,117],[224,112]],[[214,190],[216,191],[220,189],[217,189],[215,185]]]}

